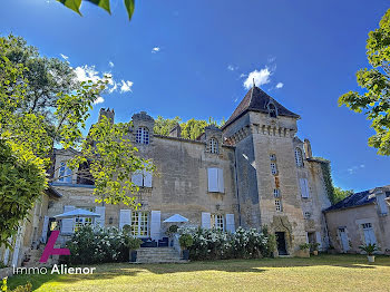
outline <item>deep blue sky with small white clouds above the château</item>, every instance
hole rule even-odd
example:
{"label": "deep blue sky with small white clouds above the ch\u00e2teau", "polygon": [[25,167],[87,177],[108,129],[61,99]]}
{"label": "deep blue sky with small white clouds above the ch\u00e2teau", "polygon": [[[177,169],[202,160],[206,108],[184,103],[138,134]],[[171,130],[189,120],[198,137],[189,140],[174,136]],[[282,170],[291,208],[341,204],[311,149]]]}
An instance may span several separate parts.
{"label": "deep blue sky with small white clouds above the ch\u00e2teau", "polygon": [[252,72],[301,115],[299,136],[332,162],[335,184],[362,191],[390,184],[390,157],[368,147],[365,117],[337,101],[358,89],[367,35],[388,8],[384,0],[138,0],[128,22],[119,0],[113,16],[84,3],[84,17],[53,0],[12,0],[2,2],[0,33],[22,36],[42,55],[64,55],[80,78],[110,72],[113,93],[90,123],[100,107],[115,108],[120,121],[139,110],[227,119]]}

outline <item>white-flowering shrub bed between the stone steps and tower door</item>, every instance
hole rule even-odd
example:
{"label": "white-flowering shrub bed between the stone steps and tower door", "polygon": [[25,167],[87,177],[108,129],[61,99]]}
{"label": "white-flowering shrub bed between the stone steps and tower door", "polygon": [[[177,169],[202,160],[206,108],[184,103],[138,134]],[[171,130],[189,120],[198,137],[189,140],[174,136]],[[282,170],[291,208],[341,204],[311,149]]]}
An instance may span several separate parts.
{"label": "white-flowering shrub bed between the stone steps and tower door", "polygon": [[272,256],[275,249],[275,239],[266,227],[262,232],[238,227],[235,233],[201,227],[181,228],[179,233],[194,239],[189,247],[192,260],[259,259]]}

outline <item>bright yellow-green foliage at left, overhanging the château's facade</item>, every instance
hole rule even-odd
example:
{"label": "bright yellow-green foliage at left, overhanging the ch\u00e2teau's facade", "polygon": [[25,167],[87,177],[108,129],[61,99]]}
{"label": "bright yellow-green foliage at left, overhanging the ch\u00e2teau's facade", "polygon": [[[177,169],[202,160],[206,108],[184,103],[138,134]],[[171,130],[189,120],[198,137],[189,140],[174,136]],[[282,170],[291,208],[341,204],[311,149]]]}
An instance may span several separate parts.
{"label": "bright yellow-green foliage at left, overhanging the ch\u00e2teau's facade", "polygon": [[[84,81],[75,90],[60,91],[52,105],[41,104],[35,110],[27,107],[33,77],[25,62],[8,58],[18,43],[22,43],[19,38],[0,37],[0,245],[7,246],[49,183],[46,171],[52,164],[55,145],[81,150],[69,166],[78,171],[81,163],[89,164],[99,202],[136,207],[134,194],[138,188],[129,174],[153,171],[126,138],[128,125],[101,119],[87,138],[82,136],[89,110],[108,79]],[[55,90],[48,90],[48,100],[52,101]],[[48,121],[46,113],[50,110],[52,119]]]}

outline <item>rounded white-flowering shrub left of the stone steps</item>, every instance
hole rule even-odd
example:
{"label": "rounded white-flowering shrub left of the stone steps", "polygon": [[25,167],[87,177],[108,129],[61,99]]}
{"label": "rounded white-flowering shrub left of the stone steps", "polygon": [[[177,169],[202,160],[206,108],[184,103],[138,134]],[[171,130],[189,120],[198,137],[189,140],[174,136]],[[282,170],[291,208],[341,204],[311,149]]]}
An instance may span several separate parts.
{"label": "rounded white-flowering shrub left of the stone steps", "polygon": [[129,235],[119,232],[115,227],[92,228],[84,226],[67,242],[70,256],[64,256],[64,261],[70,264],[91,264],[128,261],[128,247],[126,243]]}

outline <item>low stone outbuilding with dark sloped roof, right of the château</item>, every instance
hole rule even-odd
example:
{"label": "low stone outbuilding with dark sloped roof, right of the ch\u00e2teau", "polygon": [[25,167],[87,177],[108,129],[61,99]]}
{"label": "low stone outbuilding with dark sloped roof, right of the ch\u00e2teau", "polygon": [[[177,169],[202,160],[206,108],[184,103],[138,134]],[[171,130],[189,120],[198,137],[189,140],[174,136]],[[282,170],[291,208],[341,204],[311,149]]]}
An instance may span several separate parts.
{"label": "low stone outbuilding with dark sloped roof, right of the ch\u00e2teau", "polygon": [[390,185],[352,194],[325,210],[330,243],[341,253],[359,253],[376,244],[390,254]]}

